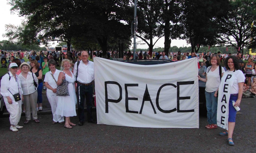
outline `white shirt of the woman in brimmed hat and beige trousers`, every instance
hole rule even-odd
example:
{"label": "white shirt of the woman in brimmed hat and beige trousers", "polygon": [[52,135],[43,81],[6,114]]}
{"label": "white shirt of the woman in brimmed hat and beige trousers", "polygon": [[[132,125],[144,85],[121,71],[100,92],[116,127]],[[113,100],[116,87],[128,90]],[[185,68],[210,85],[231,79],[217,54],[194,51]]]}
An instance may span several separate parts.
{"label": "white shirt of the woman in brimmed hat and beige trousers", "polygon": [[[38,86],[38,79],[35,74],[33,74],[33,75],[34,75],[35,82]],[[22,76],[22,73],[19,74],[19,78],[21,81],[23,95],[28,95],[28,94],[34,93],[37,90],[37,88],[34,85],[33,76],[32,76],[31,72],[28,72],[27,79],[25,79]]]}

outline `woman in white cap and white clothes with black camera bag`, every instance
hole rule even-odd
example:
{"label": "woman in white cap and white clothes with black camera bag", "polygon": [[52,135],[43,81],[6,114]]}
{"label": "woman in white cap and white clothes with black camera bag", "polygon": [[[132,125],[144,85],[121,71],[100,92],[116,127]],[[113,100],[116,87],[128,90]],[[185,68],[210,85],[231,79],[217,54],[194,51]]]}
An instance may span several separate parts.
{"label": "woman in white cap and white clothes with black camera bag", "polygon": [[[19,126],[18,122],[20,120],[22,107],[21,103],[23,100],[23,91],[21,81],[16,74],[18,71],[18,65],[16,63],[9,64],[9,72],[5,74],[1,79],[0,93],[3,95],[6,109],[10,113],[10,130],[17,132],[18,129],[23,128]],[[19,94],[19,95],[17,95]],[[14,98],[16,96],[16,99]]]}

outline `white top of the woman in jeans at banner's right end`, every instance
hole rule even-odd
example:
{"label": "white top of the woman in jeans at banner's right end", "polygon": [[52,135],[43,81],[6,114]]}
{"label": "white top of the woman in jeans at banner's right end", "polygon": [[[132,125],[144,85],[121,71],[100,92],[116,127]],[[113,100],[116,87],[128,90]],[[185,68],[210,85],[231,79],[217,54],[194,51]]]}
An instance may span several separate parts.
{"label": "white top of the woman in jeans at banner's right end", "polygon": [[[211,66],[209,66],[207,68],[207,71],[206,71],[207,81],[206,81],[206,84],[205,84],[205,91],[214,92],[220,86],[219,66],[213,72],[211,72],[210,68],[211,68]],[[224,73],[224,72],[225,72],[224,68],[221,67],[221,74]]]}

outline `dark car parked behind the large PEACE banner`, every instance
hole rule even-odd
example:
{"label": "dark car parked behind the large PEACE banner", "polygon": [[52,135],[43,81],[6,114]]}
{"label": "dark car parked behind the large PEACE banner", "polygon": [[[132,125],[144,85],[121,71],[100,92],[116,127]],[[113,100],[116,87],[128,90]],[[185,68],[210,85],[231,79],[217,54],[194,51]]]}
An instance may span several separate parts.
{"label": "dark car parked behind the large PEACE banner", "polygon": [[[164,64],[174,62],[172,60],[162,60],[162,59],[138,59],[138,60],[124,60],[120,62],[131,63],[131,64],[139,64],[139,65],[156,65],[156,64]],[[201,78],[205,78],[205,76],[200,75]],[[205,82],[198,81],[199,86],[199,105],[206,109],[206,100],[205,100]]]}

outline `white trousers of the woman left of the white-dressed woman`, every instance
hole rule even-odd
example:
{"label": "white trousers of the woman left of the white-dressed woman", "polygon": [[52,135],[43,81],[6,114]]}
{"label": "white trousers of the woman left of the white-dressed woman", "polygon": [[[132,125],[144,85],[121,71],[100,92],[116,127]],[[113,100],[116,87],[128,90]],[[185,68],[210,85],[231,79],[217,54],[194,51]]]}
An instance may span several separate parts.
{"label": "white trousers of the woman left of the white-dressed woman", "polygon": [[63,116],[61,117],[61,115],[56,115],[56,108],[58,105],[57,94],[53,93],[53,92],[46,91],[46,95],[47,95],[48,101],[51,105],[51,112],[52,112],[52,116],[53,116],[52,120],[55,122],[63,122],[64,117]]}

